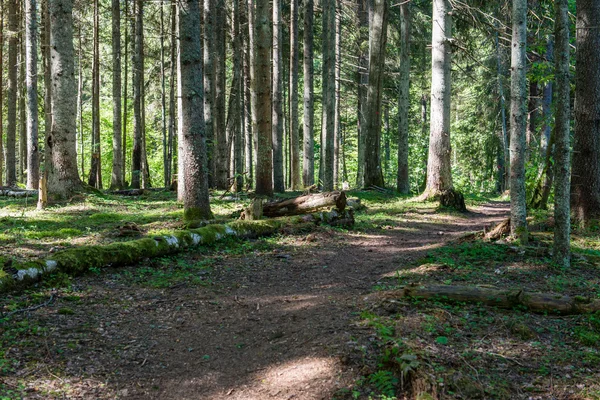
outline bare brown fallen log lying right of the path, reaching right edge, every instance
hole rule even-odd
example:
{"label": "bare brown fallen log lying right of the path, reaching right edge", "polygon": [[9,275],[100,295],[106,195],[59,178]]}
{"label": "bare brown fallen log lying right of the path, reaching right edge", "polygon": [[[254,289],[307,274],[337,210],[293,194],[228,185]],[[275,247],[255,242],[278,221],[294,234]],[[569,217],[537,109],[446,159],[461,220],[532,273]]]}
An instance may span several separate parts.
{"label": "bare brown fallen log lying right of the path, reaching right edge", "polygon": [[499,308],[525,308],[535,313],[586,314],[600,311],[600,300],[556,293],[527,292],[481,286],[411,284],[384,294],[388,298],[417,298],[437,301],[477,303]]}

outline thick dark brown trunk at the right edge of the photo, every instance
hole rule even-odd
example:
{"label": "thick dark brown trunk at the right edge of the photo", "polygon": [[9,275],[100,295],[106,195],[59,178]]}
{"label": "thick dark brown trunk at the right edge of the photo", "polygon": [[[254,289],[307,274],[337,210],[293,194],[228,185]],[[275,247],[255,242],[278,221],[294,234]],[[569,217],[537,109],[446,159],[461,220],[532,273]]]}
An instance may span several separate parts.
{"label": "thick dark brown trunk at the right edge of the photo", "polygon": [[571,207],[582,226],[600,218],[600,3],[577,1]]}

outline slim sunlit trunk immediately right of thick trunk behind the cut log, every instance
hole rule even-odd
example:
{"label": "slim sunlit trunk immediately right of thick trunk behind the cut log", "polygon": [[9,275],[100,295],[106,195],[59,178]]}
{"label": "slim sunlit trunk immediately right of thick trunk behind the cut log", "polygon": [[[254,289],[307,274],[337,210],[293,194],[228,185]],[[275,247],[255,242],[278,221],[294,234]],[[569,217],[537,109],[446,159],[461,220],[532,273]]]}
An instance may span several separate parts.
{"label": "slim sunlit trunk immediately right of thick trunk behind the cut log", "polygon": [[283,173],[283,46],[281,29],[281,0],[273,0],[273,71],[272,71],[272,116],[273,134],[273,188],[275,192],[285,191]]}

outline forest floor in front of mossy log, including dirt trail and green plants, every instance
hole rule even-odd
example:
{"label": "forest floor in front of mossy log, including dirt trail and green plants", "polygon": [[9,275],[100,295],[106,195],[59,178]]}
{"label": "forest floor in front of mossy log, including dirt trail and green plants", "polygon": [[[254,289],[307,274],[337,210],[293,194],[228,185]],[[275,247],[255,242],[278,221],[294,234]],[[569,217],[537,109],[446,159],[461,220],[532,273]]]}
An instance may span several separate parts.
{"label": "forest floor in front of mossy log, including dirt trail and green plants", "polygon": [[[380,296],[429,282],[599,297],[597,233],[576,234],[560,270],[547,214],[523,248],[464,237],[505,218],[507,203],[456,214],[359,195],[368,209],[352,230],[228,239],[5,296],[0,399],[600,399],[599,315]],[[28,238],[5,218],[14,251]]]}

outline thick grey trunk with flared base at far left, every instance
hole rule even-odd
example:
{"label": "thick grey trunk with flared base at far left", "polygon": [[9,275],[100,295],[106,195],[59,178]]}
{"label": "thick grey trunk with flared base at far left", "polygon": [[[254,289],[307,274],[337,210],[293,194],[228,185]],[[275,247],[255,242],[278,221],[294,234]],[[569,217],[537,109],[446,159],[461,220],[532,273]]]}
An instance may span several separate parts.
{"label": "thick grey trunk with flared base at far left", "polygon": [[48,200],[68,199],[81,188],[77,173],[77,86],[73,51],[73,1],[49,0],[52,130],[47,145]]}

